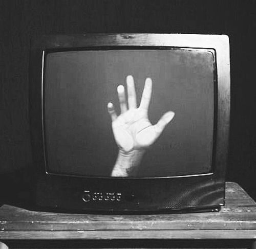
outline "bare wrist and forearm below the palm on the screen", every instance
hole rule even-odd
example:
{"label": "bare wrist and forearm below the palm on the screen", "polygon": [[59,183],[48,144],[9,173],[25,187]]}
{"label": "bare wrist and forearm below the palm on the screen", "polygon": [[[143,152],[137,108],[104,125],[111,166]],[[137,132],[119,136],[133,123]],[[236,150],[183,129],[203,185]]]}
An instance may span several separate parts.
{"label": "bare wrist and forearm below the palm on the screen", "polygon": [[144,149],[129,152],[119,150],[111,176],[134,176],[144,153]]}

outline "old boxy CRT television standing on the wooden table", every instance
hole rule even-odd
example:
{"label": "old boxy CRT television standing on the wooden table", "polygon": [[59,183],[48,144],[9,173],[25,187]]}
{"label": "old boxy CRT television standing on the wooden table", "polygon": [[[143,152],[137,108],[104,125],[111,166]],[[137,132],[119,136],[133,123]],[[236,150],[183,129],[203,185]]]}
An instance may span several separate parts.
{"label": "old boxy CRT television standing on the wooden table", "polygon": [[35,201],[70,212],[224,205],[226,35],[44,36],[30,56]]}

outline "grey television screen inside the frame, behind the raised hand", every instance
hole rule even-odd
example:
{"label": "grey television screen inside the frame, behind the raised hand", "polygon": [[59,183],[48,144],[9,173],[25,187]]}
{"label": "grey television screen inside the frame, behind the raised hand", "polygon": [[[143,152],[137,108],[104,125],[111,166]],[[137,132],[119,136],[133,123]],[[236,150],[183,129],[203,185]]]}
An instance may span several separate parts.
{"label": "grey television screen inside the frame, behind the raised hand", "polygon": [[[212,172],[217,101],[215,50],[50,51],[44,57],[43,74],[45,166],[48,173],[143,178]],[[148,87],[145,81],[152,81],[152,93],[147,96],[145,110],[150,123],[141,129],[163,121],[161,117],[166,112],[173,111],[175,116],[164,123],[154,141],[138,148],[143,153],[136,170],[122,175],[113,173],[123,149],[119,139],[129,142],[130,137],[126,130],[119,134],[114,122],[131,109],[130,103],[125,104],[127,110],[120,109],[120,90],[123,88],[119,87],[119,94],[117,91],[118,86],[123,85],[125,103],[129,102],[131,91],[127,92],[126,78],[134,81],[137,104],[133,108],[140,106],[143,89]],[[133,89],[132,92],[134,94]],[[108,105],[112,108],[109,111]],[[113,109],[115,120],[109,114]],[[133,119],[136,119],[138,113],[134,115]],[[151,136],[150,132],[146,133],[143,139]],[[127,149],[129,153],[129,150],[136,150],[131,148]]]}

